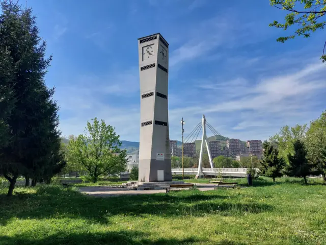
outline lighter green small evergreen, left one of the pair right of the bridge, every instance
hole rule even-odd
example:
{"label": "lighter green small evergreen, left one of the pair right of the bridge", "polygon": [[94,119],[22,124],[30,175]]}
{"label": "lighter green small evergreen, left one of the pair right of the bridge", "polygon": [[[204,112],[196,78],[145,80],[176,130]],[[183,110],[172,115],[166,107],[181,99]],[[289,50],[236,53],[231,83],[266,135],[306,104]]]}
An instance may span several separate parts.
{"label": "lighter green small evergreen, left one of the pair right of the bridge", "polygon": [[264,176],[273,178],[282,177],[282,169],[285,165],[283,158],[279,158],[279,151],[266,140],[263,143],[263,158],[260,161],[261,170]]}

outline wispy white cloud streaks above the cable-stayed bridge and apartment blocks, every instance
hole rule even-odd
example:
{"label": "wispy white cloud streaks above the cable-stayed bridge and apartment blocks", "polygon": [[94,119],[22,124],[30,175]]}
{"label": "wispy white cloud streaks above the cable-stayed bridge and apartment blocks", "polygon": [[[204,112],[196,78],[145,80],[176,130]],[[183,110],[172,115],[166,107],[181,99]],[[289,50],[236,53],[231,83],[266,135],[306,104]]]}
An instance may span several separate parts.
{"label": "wispy white cloud streaks above the cable-stayed bridge and apartment blocks", "polygon": [[[169,116],[172,121],[180,115],[185,119],[194,118],[190,124],[195,127],[201,114],[206,114],[210,123],[220,125],[220,131],[229,134],[229,137],[234,135],[239,138],[256,130],[253,135],[266,139],[269,132],[291,121],[311,119],[312,96],[326,91],[324,76],[324,65],[312,63],[293,72],[285,69],[283,75],[260,77],[259,81],[240,77],[229,82],[213,83],[210,79],[197,85],[202,90],[202,97],[193,96],[195,106],[174,107]],[[210,94],[213,96],[210,97]],[[235,94],[238,98],[234,98]],[[213,100],[205,100],[206,97],[216,96],[221,97],[221,100],[215,99],[219,100],[217,104]]]}

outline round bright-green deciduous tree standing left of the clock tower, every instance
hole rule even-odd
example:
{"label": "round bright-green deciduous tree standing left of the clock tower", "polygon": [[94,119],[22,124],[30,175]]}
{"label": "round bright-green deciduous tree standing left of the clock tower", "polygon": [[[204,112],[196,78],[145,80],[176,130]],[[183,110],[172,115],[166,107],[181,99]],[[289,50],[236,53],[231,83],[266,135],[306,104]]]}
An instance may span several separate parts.
{"label": "round bright-green deciduous tree standing left of the clock tower", "polygon": [[127,165],[126,150],[119,149],[119,137],[112,126],[95,117],[92,123],[87,122],[84,135],[69,141],[68,161],[80,164],[93,182],[103,174],[119,174]]}

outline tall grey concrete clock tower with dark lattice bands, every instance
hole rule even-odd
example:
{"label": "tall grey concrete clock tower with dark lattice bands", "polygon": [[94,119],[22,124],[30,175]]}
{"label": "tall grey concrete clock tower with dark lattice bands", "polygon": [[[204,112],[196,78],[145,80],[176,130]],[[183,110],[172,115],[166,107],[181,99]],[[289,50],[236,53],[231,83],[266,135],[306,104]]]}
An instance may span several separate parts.
{"label": "tall grey concrete clock tower with dark lattice bands", "polygon": [[139,181],[172,181],[168,115],[169,44],[159,33],[138,39]]}

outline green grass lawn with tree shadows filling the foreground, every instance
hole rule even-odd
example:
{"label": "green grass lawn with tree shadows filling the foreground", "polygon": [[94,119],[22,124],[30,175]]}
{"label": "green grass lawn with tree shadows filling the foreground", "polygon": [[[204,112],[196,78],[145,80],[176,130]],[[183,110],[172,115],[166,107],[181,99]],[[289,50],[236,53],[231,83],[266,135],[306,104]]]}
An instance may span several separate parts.
{"label": "green grass lawn with tree shadows filling the foreground", "polygon": [[326,244],[326,186],[277,181],[111,198],[55,185],[7,198],[1,188],[0,244]]}

